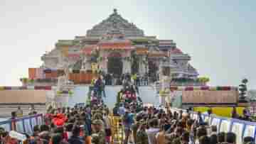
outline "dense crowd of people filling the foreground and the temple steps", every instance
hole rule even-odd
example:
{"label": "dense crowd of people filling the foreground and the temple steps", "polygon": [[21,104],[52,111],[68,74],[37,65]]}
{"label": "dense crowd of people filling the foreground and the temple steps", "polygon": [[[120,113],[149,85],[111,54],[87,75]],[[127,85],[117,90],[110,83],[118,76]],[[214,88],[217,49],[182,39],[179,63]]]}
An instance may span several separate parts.
{"label": "dense crowd of people filling the foreground and the temple steps", "polygon": [[[118,92],[112,111],[102,100],[105,92],[100,77],[92,82],[85,106],[58,109],[50,106],[45,123],[34,126],[33,135],[24,133],[27,135],[24,143],[112,144],[116,142],[112,118],[116,117],[124,130],[123,144],[240,144],[235,133],[217,133],[218,128],[203,121],[200,112],[198,118],[193,119],[191,109],[176,112],[168,106],[144,106],[138,99],[136,82],[127,79],[122,84],[124,87]],[[0,143],[18,143],[3,128],[0,135]],[[255,140],[245,137],[242,143],[253,144]]]}

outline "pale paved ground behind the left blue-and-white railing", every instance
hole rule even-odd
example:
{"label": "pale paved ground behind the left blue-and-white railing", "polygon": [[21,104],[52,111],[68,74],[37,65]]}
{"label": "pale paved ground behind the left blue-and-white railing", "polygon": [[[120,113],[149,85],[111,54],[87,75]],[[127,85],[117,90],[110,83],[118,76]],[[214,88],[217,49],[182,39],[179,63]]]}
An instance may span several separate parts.
{"label": "pale paved ground behind the left blue-and-white railing", "polygon": [[[29,112],[28,105],[21,106],[21,109],[23,110],[23,115],[28,115]],[[18,108],[18,105],[0,105],[0,118],[10,118],[11,117],[11,111],[16,111]],[[36,111],[38,113],[46,113],[46,106],[35,106]]]}

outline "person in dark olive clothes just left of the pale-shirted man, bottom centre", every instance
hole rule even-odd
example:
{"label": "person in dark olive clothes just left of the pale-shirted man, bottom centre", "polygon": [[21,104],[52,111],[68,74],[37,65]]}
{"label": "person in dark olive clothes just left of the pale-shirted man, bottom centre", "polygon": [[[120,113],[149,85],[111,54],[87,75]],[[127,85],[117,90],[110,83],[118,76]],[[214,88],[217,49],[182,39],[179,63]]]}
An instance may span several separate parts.
{"label": "person in dark olive clothes just left of the pale-shirted man, bottom centre", "polygon": [[149,144],[149,138],[146,134],[146,121],[139,121],[139,130],[136,133],[136,144]]}

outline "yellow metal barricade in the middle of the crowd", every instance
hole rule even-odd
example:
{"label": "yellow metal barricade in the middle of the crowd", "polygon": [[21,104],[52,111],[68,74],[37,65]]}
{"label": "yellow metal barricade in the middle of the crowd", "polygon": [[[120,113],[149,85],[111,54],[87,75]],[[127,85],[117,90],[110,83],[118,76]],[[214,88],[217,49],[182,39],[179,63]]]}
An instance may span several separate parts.
{"label": "yellow metal barricade in the middle of the crowd", "polygon": [[112,116],[112,144],[122,144],[124,140],[124,126],[120,116]]}

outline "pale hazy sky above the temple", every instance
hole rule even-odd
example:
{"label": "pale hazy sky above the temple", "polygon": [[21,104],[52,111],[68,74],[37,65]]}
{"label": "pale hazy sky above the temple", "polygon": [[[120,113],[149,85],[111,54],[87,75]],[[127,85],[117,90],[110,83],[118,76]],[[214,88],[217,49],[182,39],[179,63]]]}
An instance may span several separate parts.
{"label": "pale hazy sky above the temple", "polygon": [[211,85],[247,77],[256,88],[256,1],[1,0],[0,85],[20,85],[59,39],[73,39],[117,9],[146,35],[173,39]]}

